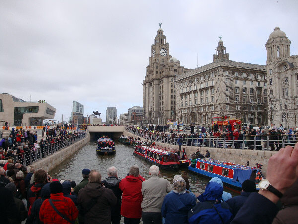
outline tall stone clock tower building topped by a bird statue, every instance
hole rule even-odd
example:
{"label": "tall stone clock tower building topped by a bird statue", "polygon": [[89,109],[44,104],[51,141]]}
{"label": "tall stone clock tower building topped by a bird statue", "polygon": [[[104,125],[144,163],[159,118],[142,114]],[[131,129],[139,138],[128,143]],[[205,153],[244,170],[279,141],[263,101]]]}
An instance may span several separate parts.
{"label": "tall stone clock tower building topped by a bird statue", "polygon": [[180,61],[170,55],[169,43],[159,28],[151,46],[149,65],[143,80],[143,120],[145,124],[165,124],[176,111],[176,88],[178,75],[189,71]]}

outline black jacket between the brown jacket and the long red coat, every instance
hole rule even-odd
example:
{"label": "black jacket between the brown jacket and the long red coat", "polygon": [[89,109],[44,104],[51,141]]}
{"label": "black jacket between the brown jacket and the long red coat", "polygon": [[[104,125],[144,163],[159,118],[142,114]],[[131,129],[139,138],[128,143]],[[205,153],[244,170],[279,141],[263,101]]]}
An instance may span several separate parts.
{"label": "black jacket between the brown jacket and the long red coat", "polygon": [[113,191],[114,195],[117,198],[117,204],[114,207],[111,207],[111,216],[121,216],[120,208],[121,208],[121,196],[122,191],[119,188],[120,180],[117,177],[108,177],[104,181],[101,182],[106,188],[109,188]]}

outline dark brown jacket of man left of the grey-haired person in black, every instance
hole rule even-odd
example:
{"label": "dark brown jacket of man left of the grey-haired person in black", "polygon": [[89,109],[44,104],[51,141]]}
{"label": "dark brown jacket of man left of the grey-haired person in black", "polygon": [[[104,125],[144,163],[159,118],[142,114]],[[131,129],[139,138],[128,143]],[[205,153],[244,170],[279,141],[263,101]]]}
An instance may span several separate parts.
{"label": "dark brown jacket of man left of the grey-haired person in black", "polygon": [[105,188],[101,183],[88,183],[82,188],[77,197],[80,208],[88,208],[92,199],[96,204],[84,214],[86,224],[111,224],[111,207],[117,203],[117,198],[111,189]]}

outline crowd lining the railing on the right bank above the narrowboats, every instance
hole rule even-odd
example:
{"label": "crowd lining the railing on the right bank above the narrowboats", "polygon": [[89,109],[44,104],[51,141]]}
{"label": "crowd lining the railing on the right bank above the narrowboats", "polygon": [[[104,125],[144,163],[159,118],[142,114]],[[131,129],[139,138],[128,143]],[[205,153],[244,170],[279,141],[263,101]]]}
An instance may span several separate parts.
{"label": "crowd lining the railing on the right bank above the narrowboats", "polygon": [[126,130],[139,135],[148,140],[159,141],[169,144],[217,147],[217,148],[239,148],[239,149],[256,149],[256,150],[279,150],[286,145],[292,147],[298,142],[298,127],[285,130],[282,125],[276,128],[271,124],[268,130],[253,128],[249,125],[246,128],[234,129],[231,124],[219,130],[218,125],[213,129],[202,127],[200,132],[194,132],[194,126],[191,125],[191,133],[173,132],[167,129],[167,125],[153,125],[149,127],[129,126]]}

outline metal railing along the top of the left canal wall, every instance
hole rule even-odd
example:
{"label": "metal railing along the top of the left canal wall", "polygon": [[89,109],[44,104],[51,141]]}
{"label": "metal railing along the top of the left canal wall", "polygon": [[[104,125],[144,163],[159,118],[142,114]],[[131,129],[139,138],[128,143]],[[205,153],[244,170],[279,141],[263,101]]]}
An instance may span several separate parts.
{"label": "metal railing along the top of the left canal wall", "polygon": [[22,165],[28,166],[31,165],[33,162],[36,162],[42,158],[47,157],[48,155],[51,155],[63,148],[66,148],[75,142],[78,142],[82,139],[84,139],[87,136],[86,132],[79,132],[78,135],[72,136],[69,139],[61,140],[60,142],[56,143],[46,143],[44,147],[40,148],[32,148],[31,150],[28,149],[24,153],[16,154],[13,157],[6,157],[6,159],[12,159],[13,162],[20,161]]}

